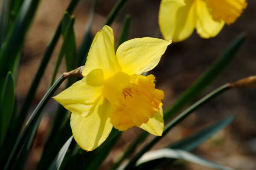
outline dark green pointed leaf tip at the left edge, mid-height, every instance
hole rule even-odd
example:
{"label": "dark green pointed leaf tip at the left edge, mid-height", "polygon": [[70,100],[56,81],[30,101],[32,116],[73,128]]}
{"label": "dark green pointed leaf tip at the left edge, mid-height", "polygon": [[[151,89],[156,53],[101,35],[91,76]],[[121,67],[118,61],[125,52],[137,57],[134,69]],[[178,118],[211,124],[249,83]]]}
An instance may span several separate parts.
{"label": "dark green pointed leaf tip at the left edge, mid-height", "polygon": [[12,120],[15,108],[15,84],[12,74],[9,72],[3,88],[3,95],[0,99],[0,148],[6,137],[6,132]]}

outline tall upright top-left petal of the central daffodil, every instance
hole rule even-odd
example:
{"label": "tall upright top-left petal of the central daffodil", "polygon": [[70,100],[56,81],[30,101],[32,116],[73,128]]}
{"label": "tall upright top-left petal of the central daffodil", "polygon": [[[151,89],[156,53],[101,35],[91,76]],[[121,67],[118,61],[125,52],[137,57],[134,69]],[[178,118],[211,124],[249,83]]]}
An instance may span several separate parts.
{"label": "tall upright top-left petal of the central daffodil", "polygon": [[87,76],[90,71],[96,68],[103,70],[105,78],[119,70],[114,48],[113,30],[109,26],[104,26],[96,34],[82,72],[83,76]]}

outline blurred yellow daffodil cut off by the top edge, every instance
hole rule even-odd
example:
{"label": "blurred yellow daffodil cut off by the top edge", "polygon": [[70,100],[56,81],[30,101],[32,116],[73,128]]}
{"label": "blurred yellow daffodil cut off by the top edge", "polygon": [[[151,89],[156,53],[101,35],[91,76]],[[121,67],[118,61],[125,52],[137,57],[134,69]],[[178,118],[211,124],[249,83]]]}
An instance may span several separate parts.
{"label": "blurred yellow daffodil cut off by the top edge", "polygon": [[215,37],[225,23],[234,23],[246,6],[246,0],[162,0],[160,31],[165,40],[174,42],[185,40],[194,29],[202,38]]}

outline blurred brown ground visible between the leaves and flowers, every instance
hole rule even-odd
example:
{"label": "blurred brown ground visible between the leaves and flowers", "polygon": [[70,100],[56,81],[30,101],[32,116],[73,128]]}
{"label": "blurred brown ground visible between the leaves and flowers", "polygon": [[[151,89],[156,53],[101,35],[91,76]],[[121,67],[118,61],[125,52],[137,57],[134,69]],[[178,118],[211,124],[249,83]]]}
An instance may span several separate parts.
{"label": "blurred brown ground visible between the leaves and flowers", "polygon": [[[98,0],[92,31],[96,34],[105,22],[108,13],[117,0]],[[157,88],[165,92],[164,109],[169,108],[175,99],[197,79],[200,74],[224,51],[224,49],[241,32],[247,34],[246,42],[236,59],[215,82],[207,88],[204,94],[218,88],[226,82],[256,74],[256,1],[247,0],[248,6],[236,23],[225,26],[217,37],[201,39],[196,33],[189,39],[170,45],[162,57],[159,65],[151,71],[157,79]],[[17,102],[21,105],[32,79],[35,76],[42,55],[54,31],[61,20],[69,0],[42,0],[38,12],[26,38],[26,45],[21,60],[17,82]],[[80,0],[74,15],[77,46],[81,43],[89,15],[90,0]],[[161,37],[158,31],[158,10],[160,0],[128,0],[112,28],[116,40],[126,14],[131,15],[131,34],[129,39],[137,37]],[[51,73],[55,66],[61,41],[58,43],[52,61],[41,82],[34,99],[34,106],[38,104],[47,90]],[[84,65],[84,63],[81,63]],[[65,71],[62,65],[61,71]],[[59,73],[61,75],[61,72]],[[61,88],[59,89],[61,91]],[[58,92],[59,92],[58,91]],[[171,142],[182,139],[200,130],[212,122],[236,114],[236,120],[220,133],[213,136],[193,152],[205,156],[217,163],[235,169],[256,169],[256,88],[228,91],[198,109],[180,125],[176,126],[153,149],[166,146]],[[203,95],[202,95],[203,96]],[[199,99],[199,98],[198,98]],[[38,130],[26,169],[34,169],[40,159],[41,150],[52,124],[53,113],[57,102],[51,100],[44,114]],[[34,108],[31,108],[31,111]],[[105,160],[101,169],[107,170],[122,152],[141,132],[139,128],[132,128],[122,134],[115,149]],[[196,164],[177,161],[175,165],[166,167],[179,170],[205,170]]]}

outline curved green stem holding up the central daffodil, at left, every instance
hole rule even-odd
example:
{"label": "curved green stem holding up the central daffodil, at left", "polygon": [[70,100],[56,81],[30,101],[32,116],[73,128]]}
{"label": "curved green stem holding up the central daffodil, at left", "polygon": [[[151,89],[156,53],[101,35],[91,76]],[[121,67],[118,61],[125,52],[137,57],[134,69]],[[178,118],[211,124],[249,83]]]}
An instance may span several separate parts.
{"label": "curved green stem holding up the central daffodil, at left", "polygon": [[47,93],[44,95],[43,99],[39,102],[37,107],[35,108],[35,111],[30,116],[28,122],[26,123],[26,126],[20,133],[20,136],[17,138],[17,142],[14,145],[14,148],[12,149],[12,152],[6,162],[6,166],[4,170],[12,169],[13,162],[15,161],[20,148],[24,144],[23,142],[26,140],[26,137],[29,134],[29,130],[34,127],[35,123],[37,122],[38,118],[43,114],[42,110],[44,109],[45,105],[47,104],[48,100],[51,98],[52,94],[58,89],[58,87],[61,85],[61,83],[64,81],[64,77],[61,76],[47,91]]}

